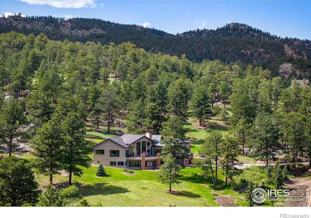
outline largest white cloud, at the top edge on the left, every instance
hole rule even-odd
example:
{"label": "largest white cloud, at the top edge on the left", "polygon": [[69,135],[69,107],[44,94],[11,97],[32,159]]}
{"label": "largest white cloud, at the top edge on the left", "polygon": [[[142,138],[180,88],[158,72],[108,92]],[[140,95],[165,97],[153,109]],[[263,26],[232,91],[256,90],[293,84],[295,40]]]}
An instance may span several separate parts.
{"label": "largest white cloud, at the top edge on the left", "polygon": [[96,0],[19,0],[28,4],[50,5],[55,8],[86,8],[96,7]]}

